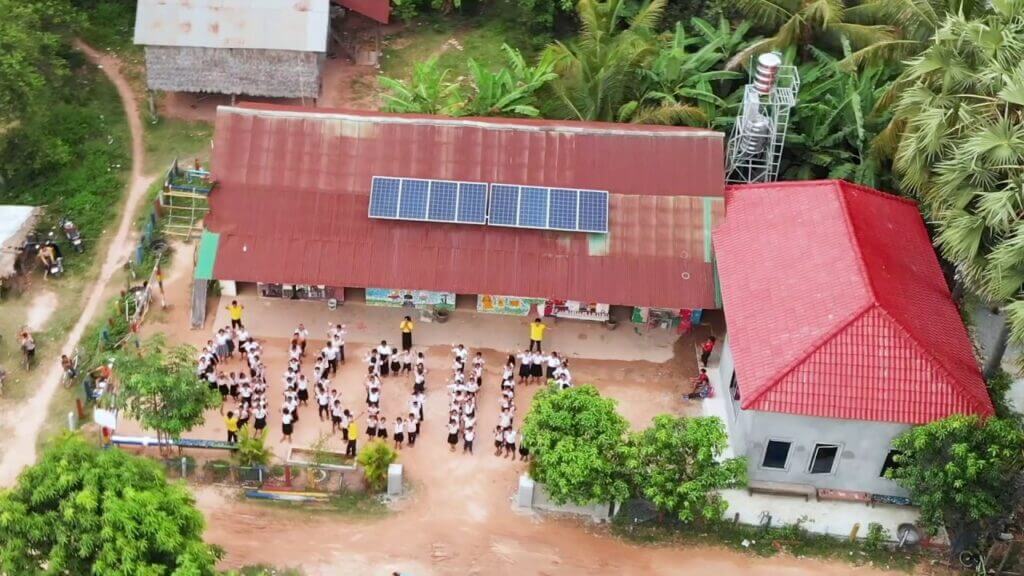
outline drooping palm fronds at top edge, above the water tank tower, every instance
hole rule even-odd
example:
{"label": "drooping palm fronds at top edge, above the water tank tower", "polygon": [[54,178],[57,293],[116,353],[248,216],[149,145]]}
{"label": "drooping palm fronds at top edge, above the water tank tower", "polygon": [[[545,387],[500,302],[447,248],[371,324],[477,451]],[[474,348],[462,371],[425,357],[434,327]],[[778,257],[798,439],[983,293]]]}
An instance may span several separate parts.
{"label": "drooping palm fronds at top edge, above the water tank tower", "polygon": [[848,8],[844,0],[735,0],[735,8],[745,19],[774,34],[737,54],[730,69],[753,54],[790,46],[839,49],[841,39],[846,38],[860,49],[894,38],[892,26],[865,24],[869,11],[864,6]]}

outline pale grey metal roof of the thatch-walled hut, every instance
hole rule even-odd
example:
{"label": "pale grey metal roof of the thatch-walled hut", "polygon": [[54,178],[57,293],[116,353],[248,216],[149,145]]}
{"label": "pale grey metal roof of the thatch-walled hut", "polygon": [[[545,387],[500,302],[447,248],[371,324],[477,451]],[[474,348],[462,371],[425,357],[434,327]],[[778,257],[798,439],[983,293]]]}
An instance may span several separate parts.
{"label": "pale grey metal roof of the thatch-walled hut", "polygon": [[138,0],[135,43],[326,52],[329,0]]}

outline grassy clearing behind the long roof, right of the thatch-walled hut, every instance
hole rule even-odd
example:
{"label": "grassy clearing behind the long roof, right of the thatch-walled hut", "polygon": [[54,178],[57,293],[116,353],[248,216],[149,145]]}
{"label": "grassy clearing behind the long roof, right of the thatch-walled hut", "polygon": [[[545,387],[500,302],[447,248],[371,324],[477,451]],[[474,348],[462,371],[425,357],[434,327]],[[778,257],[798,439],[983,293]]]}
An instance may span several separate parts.
{"label": "grassy clearing behind the long roof, right of the thatch-walled hut", "polygon": [[[498,69],[505,66],[502,44],[522,51],[527,60],[544,47],[523,25],[509,3],[483,5],[473,15],[422,14],[396,35],[385,38],[381,69],[385,76],[408,79],[416,63],[438,57],[454,77],[467,74],[466,60]],[[460,49],[461,48],[461,49]]]}

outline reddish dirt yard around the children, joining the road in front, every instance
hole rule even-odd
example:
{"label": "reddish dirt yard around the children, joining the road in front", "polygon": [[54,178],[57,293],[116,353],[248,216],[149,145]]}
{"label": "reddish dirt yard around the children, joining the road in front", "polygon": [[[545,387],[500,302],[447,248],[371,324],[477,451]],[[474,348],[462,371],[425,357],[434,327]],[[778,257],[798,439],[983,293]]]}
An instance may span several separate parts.
{"label": "reddish dirt yard around the children, joining the road in front", "polygon": [[[146,324],[150,334],[163,332],[172,341],[202,344],[219,325],[211,314],[202,330],[191,331],[188,322],[190,286],[190,246],[178,246],[165,285],[170,307],[156,312]],[[279,419],[281,373],[287,360],[287,335],[294,324],[278,319],[278,308],[292,311],[297,319],[318,315],[318,325],[307,322],[312,349],[318,349],[329,319],[340,318],[349,325],[346,342],[348,362],[333,379],[334,387],[342,393],[343,404],[359,412],[364,409],[362,355],[374,341],[397,339],[397,325],[407,314],[401,308],[378,308],[346,303],[338,311],[310,307],[308,302],[287,302],[246,298],[247,322],[253,325],[254,336],[264,341],[265,363],[268,367],[271,415],[267,430],[268,446],[279,456],[285,456],[289,445],[281,443]],[[278,312],[270,313],[268,305]],[[295,307],[288,307],[295,306]],[[323,304],[318,304],[323,306]],[[310,312],[311,311],[311,312]],[[219,315],[222,319],[223,315]],[[286,314],[283,318],[290,315]],[[257,317],[262,318],[259,321]],[[463,319],[465,324],[458,322]],[[381,318],[386,319],[380,320]],[[569,574],[719,574],[743,575],[809,575],[829,573],[868,574],[869,570],[798,560],[761,560],[720,549],[650,548],[632,545],[584,522],[559,520],[548,516],[516,510],[513,498],[518,478],[525,463],[494,456],[488,434],[498,419],[498,383],[506,349],[484,352],[486,371],[478,400],[476,454],[449,452],[445,443],[446,412],[445,380],[451,363],[451,345],[437,343],[447,336],[451,341],[466,334],[477,334],[464,342],[477,349],[478,341],[503,341],[503,337],[525,334],[525,319],[476,315],[458,310],[451,325],[418,325],[417,339],[433,345],[419,347],[427,353],[426,418],[416,447],[406,448],[398,461],[403,464],[408,493],[383,518],[352,519],[327,513],[310,513],[301,508],[268,507],[265,504],[240,499],[238,491],[222,487],[198,487],[196,495],[207,519],[206,537],[225,550],[224,568],[248,564],[270,564],[298,567],[310,576],[371,575],[389,576],[393,571],[416,576],[432,575],[569,575]],[[257,328],[258,327],[258,328]],[[462,327],[462,328],[460,328]],[[451,334],[444,334],[446,331]],[[573,380],[593,383],[603,395],[615,399],[620,410],[635,427],[644,426],[659,413],[696,414],[697,404],[680,400],[689,387],[689,377],[695,370],[692,355],[694,338],[702,334],[676,338],[674,334],[644,335],[620,327],[610,336],[600,325],[584,322],[559,322],[551,332],[551,344],[572,358]],[[273,333],[276,332],[276,335]],[[580,338],[580,334],[587,338]],[[444,335],[441,335],[444,334]],[[504,336],[503,336],[504,334]],[[511,334],[511,336],[509,336]],[[602,338],[652,338],[657,346],[671,351],[655,351],[668,356],[665,362],[594,360],[580,351],[598,351]],[[668,342],[668,343],[666,343]],[[651,344],[654,345],[654,344]],[[638,348],[639,349],[639,348]],[[600,355],[597,355],[600,356]],[[236,360],[232,367],[241,367]],[[304,370],[311,368],[304,365]],[[412,382],[407,377],[391,377],[384,381],[382,413],[389,421],[407,411]],[[539,386],[519,386],[516,393],[518,412],[515,425],[521,424],[529,401]],[[360,427],[365,425],[365,419]],[[295,446],[308,446],[317,436],[330,430],[322,423],[314,406],[300,409],[300,421],[294,435]],[[138,427],[125,422],[118,434],[136,434]],[[216,410],[208,414],[201,428],[188,434],[193,438],[224,438],[224,424]],[[365,444],[360,441],[360,446]],[[331,447],[342,447],[340,437],[331,440]],[[152,451],[151,451],[152,452]],[[155,454],[154,454],[155,455]],[[203,457],[221,455],[196,454]]]}

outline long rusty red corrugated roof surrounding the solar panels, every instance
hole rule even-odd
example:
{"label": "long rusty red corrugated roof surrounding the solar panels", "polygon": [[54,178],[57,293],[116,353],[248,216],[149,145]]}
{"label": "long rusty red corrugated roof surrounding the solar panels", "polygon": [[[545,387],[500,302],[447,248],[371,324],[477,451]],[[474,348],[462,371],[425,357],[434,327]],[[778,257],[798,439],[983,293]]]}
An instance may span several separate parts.
{"label": "long rusty red corrugated roof surrounding the solar panels", "polygon": [[[245,105],[213,168],[216,278],[718,307],[718,132]],[[609,234],[374,219],[374,175],[606,190]]]}

